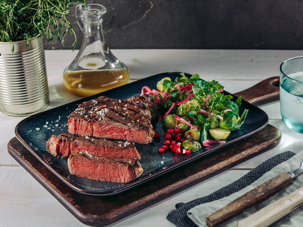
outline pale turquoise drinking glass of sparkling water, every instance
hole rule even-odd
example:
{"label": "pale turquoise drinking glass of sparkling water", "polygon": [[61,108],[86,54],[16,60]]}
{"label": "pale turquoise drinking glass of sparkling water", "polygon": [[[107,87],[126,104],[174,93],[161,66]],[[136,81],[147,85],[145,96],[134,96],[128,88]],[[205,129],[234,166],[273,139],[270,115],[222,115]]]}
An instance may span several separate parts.
{"label": "pale turquoise drinking glass of sparkling water", "polygon": [[281,116],[288,128],[303,133],[303,56],[280,66]]}

